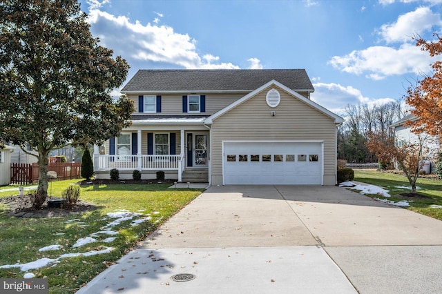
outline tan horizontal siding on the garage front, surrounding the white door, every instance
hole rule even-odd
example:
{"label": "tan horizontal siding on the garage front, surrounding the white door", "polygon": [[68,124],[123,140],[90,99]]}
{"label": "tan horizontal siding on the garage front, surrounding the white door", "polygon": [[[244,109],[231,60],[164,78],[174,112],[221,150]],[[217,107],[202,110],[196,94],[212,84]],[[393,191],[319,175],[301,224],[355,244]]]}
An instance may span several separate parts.
{"label": "tan horizontal siding on the garage front, surrounding the white door", "polygon": [[[281,95],[280,105],[267,106],[270,88],[251,97],[213,121],[211,127],[212,177],[222,177],[223,140],[323,140],[324,177],[336,174],[334,119],[274,87]],[[276,115],[271,116],[271,111]],[[218,184],[218,183],[214,183]]]}

